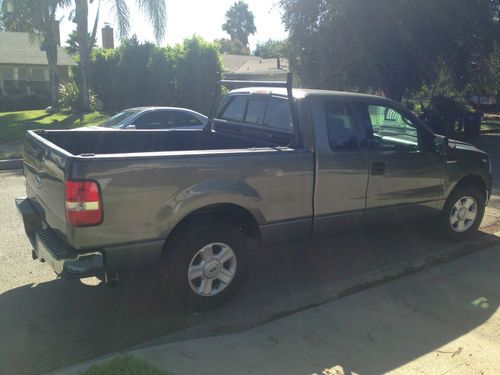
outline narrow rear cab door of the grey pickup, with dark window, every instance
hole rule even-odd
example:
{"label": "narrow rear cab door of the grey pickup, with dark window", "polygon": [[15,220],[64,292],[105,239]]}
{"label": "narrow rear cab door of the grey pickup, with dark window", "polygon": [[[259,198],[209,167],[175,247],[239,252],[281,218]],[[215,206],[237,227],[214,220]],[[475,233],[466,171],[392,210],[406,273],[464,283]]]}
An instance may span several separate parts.
{"label": "narrow rear cab door of the grey pickup, with dark window", "polygon": [[366,131],[353,104],[332,97],[311,99],[316,147],[314,231],[352,229],[363,222],[369,153]]}

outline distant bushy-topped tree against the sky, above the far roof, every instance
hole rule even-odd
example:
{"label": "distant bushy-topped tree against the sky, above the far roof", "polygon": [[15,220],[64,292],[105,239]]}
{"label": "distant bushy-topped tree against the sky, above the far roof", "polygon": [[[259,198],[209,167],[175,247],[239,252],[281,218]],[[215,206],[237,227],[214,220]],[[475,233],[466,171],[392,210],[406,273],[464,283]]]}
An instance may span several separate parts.
{"label": "distant bushy-topped tree against the sky, above the far roof", "polygon": [[226,22],[222,25],[222,30],[229,34],[231,40],[239,40],[248,47],[248,37],[257,31],[254,15],[248,9],[248,4],[242,0],[235,2],[226,12]]}

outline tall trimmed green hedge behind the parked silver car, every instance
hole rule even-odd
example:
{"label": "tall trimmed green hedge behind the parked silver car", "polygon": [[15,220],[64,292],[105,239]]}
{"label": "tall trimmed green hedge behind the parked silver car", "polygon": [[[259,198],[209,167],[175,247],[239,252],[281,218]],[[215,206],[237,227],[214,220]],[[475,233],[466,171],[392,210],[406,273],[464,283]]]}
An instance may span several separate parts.
{"label": "tall trimmed green hedge behind the parked silver car", "polygon": [[90,86],[108,111],[155,105],[208,113],[221,71],[217,46],[199,37],[164,48],[133,38],[94,52]]}

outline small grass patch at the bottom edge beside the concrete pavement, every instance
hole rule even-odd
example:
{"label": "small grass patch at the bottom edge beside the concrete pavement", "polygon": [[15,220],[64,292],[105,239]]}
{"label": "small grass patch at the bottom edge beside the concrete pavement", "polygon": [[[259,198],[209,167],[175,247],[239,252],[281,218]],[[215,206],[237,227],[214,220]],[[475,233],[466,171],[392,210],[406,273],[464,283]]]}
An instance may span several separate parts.
{"label": "small grass patch at the bottom edge beside the concrete pavement", "polygon": [[89,367],[81,375],[168,375],[142,359],[122,356]]}

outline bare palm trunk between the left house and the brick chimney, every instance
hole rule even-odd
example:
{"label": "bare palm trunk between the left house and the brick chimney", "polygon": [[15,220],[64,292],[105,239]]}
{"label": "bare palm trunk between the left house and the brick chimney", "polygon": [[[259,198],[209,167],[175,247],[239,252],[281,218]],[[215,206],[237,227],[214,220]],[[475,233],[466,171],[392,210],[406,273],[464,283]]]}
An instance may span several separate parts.
{"label": "bare palm trunk between the left house and the brick chimney", "polygon": [[89,66],[91,41],[88,33],[88,2],[87,0],[75,0],[75,22],[78,32],[78,43],[80,49],[80,96],[83,112],[91,112],[89,95]]}

